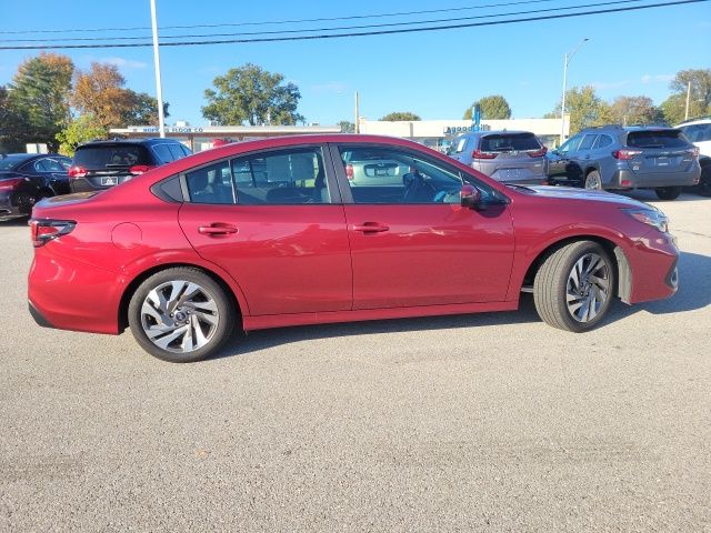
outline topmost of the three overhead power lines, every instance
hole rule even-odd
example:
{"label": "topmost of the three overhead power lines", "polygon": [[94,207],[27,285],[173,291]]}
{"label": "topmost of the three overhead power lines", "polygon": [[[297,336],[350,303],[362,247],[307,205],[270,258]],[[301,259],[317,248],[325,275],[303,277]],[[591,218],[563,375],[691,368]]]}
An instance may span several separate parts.
{"label": "topmost of the three overhead power lines", "polygon": [[[188,24],[188,26],[161,26],[160,30],[187,30],[193,28],[227,28],[227,27],[242,27],[242,26],[278,26],[278,24],[300,24],[306,22],[334,22],[337,20],[358,20],[358,19],[374,19],[380,17],[405,17],[411,14],[430,14],[430,13],[444,13],[452,11],[471,11],[472,9],[485,9],[485,8],[501,8],[509,6],[520,6],[523,3],[542,3],[553,2],[555,0],[522,0],[517,2],[503,2],[503,3],[489,3],[484,6],[468,6],[459,8],[441,8],[441,9],[425,9],[422,11],[400,11],[395,13],[374,13],[374,14],[353,14],[349,17],[330,17],[318,19],[296,19],[296,20],[264,20],[258,22],[223,22],[219,24]],[[71,32],[88,32],[88,31],[137,31],[137,30],[150,30],[150,27],[133,27],[133,28],[76,28],[66,30],[0,30],[0,34],[21,34],[21,33],[71,33]]]}

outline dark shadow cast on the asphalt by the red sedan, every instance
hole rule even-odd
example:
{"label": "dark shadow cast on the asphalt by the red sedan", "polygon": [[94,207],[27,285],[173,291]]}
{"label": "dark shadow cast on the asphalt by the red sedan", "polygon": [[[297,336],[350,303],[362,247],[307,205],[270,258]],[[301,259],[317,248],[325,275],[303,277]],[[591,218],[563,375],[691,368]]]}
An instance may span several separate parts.
{"label": "dark shadow cast on the asphalt by the red sedan", "polygon": [[[679,259],[679,291],[672,298],[657,302],[625,305],[614,302],[610,312],[600,324],[608,325],[624,320],[640,311],[652,314],[672,314],[711,304],[711,281],[707,278],[711,272],[711,258],[695,253],[682,252]],[[273,330],[240,333],[223,348],[213,359],[229,358],[258,352],[269,348],[290,344],[292,342],[330,339],[337,336],[372,335],[379,333],[401,333],[415,331],[435,331],[452,328],[477,328],[487,325],[509,325],[540,322],[531,294],[521,294],[518,311],[498,313],[457,314],[447,316],[429,316],[415,319],[378,320],[369,322],[349,322],[339,324],[302,325],[279,328]]]}

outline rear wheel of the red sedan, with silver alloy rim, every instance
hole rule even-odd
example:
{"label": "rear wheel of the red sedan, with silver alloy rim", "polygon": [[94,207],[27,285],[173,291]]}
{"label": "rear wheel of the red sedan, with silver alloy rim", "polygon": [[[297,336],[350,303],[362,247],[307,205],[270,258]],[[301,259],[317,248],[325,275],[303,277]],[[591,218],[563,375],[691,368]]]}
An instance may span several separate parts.
{"label": "rear wheel of the red sedan, with silver alloy rim", "polygon": [[129,303],[131,333],[151,355],[192,363],[216,353],[232,335],[237,312],[212,278],[189,266],[143,281]]}

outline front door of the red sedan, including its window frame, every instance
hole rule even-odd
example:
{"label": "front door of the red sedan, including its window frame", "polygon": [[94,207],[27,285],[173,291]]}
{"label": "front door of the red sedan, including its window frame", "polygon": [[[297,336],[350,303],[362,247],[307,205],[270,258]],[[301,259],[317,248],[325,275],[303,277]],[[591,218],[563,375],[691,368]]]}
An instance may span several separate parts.
{"label": "front door of the red sedan, including its window frame", "polygon": [[[401,183],[351,187],[343,155],[380,152],[405,165]],[[508,199],[470,178],[485,210],[461,207],[462,175],[411,148],[333,144],[353,264],[353,309],[502,301],[509,288],[513,225]]]}

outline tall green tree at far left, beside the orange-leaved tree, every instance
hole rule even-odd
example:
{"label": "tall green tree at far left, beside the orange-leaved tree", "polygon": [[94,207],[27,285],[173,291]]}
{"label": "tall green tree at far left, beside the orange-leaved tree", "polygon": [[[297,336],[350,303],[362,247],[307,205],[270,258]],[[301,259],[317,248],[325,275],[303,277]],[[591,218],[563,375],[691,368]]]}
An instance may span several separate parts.
{"label": "tall green tree at far left, beside the orange-leaved tree", "polygon": [[14,142],[44,142],[56,148],[54,135],[69,120],[69,92],[74,66],[66,56],[42,52],[18,68],[7,92],[7,108],[20,118]]}

